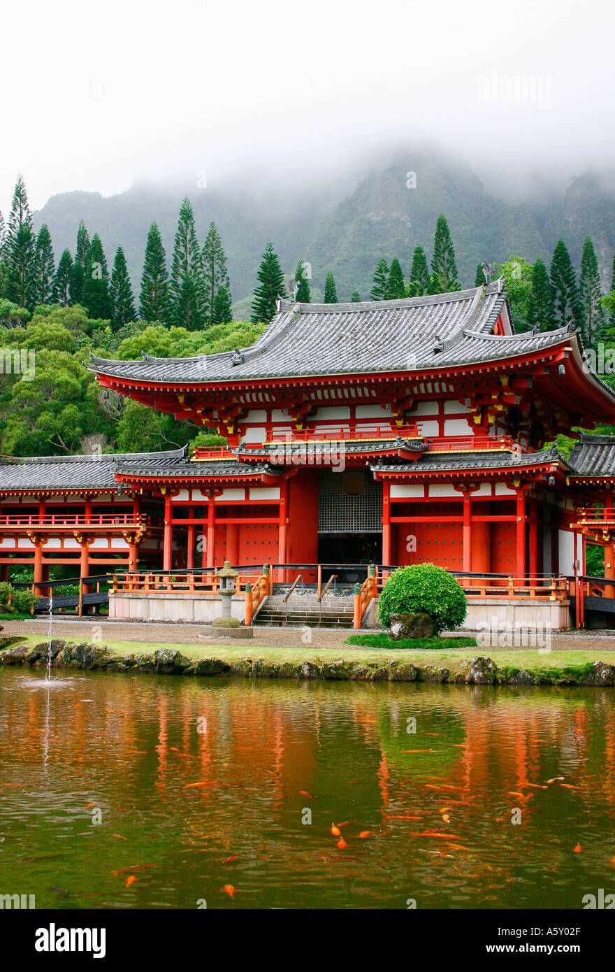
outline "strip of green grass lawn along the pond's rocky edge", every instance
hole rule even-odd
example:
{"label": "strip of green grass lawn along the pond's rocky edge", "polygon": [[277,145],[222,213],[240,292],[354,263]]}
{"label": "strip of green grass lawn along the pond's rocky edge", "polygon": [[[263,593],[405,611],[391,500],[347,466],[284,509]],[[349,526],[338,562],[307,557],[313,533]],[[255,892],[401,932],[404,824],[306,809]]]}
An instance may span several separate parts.
{"label": "strip of green grass lawn along the pond's rocky edge", "polygon": [[[359,636],[360,637],[360,636]],[[41,635],[27,635],[25,640],[31,646],[45,642],[46,638]],[[72,641],[80,641],[78,638]],[[455,640],[442,640],[452,644]],[[466,641],[466,639],[463,639]],[[467,639],[470,641],[470,639]],[[473,641],[473,639],[471,639]],[[493,658],[498,667],[511,669],[528,669],[534,673],[548,672],[558,669],[564,672],[566,669],[578,669],[591,665],[598,659],[609,661],[609,652],[600,652],[599,648],[588,648],[587,650],[566,650],[550,651],[541,653],[537,649],[510,649],[510,648],[478,648],[476,644],[465,645],[463,647],[444,647],[444,648],[377,648],[359,647],[345,644],[339,648],[323,649],[313,648],[309,644],[302,644],[297,637],[297,645],[292,648],[263,647],[258,642],[245,642],[243,644],[168,644],[165,642],[113,642],[103,640],[110,651],[116,654],[153,654],[157,648],[170,647],[179,648],[187,658],[198,660],[201,658],[220,658],[226,662],[239,662],[242,659],[261,658],[264,662],[282,664],[290,662],[296,664],[303,661],[356,661],[373,664],[388,664],[392,661],[412,662],[417,668],[427,665],[440,668],[448,668],[451,672],[459,671],[461,663],[471,660],[477,655],[485,655]]]}

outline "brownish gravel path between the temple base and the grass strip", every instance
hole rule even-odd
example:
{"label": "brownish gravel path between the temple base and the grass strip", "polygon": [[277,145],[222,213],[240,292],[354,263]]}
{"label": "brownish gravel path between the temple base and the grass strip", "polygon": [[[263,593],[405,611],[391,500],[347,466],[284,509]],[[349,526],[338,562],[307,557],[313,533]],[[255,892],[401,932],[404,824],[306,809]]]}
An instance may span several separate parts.
{"label": "brownish gravel path between the temple base and the grass strip", "polygon": [[[4,635],[36,635],[46,639],[49,620],[3,621]],[[142,624],[138,622],[99,620],[60,621],[53,619],[53,635],[70,641],[86,642],[93,637],[93,628],[100,627],[103,641],[109,642],[147,642],[152,644],[245,644],[270,648],[292,648],[301,644],[302,634],[297,629],[257,628],[254,641],[199,638],[207,629],[202,624]],[[353,632],[318,628],[312,629],[312,648],[339,648]],[[451,647],[455,647],[455,636],[451,637]],[[348,647],[348,646],[347,646]],[[615,631],[613,632],[562,632],[554,633],[554,651],[615,651]],[[483,649],[489,653],[489,649]],[[492,649],[493,650],[493,649]],[[514,648],[507,648],[514,650]],[[524,650],[523,648],[521,650]]]}

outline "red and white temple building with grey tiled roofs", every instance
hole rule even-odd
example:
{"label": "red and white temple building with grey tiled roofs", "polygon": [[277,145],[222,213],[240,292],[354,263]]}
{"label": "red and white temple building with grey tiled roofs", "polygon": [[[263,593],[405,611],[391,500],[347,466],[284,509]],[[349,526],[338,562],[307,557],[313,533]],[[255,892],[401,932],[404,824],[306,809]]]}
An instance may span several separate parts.
{"label": "red and white temple building with grey tiled roofs", "polygon": [[317,565],[348,565],[353,580],[361,564],[431,561],[530,585],[585,573],[589,541],[615,577],[615,441],[583,434],[568,459],[550,445],[615,423],[615,393],[574,328],[514,333],[501,280],[400,300],[280,300],[249,348],[89,367],[102,388],[228,445],[3,462],[4,569],[30,558],[38,582],[70,558],[82,573],[228,560],[288,566],[285,580],[301,569],[309,583]]}

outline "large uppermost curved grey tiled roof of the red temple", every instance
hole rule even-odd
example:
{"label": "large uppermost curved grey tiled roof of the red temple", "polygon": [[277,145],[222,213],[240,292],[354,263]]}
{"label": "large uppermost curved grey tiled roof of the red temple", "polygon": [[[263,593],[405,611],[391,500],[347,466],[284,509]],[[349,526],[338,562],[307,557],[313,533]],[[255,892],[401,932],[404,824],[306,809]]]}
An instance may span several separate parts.
{"label": "large uppermost curved grey tiled roof of the red temple", "polygon": [[[286,375],[405,371],[512,358],[553,347],[566,329],[495,335],[506,310],[502,281],[451,294],[361,303],[303,304],[281,300],[267,329],[240,352],[196,358],[107,361],[101,375],[142,382],[198,384]],[[507,312],[504,314],[507,321]]]}

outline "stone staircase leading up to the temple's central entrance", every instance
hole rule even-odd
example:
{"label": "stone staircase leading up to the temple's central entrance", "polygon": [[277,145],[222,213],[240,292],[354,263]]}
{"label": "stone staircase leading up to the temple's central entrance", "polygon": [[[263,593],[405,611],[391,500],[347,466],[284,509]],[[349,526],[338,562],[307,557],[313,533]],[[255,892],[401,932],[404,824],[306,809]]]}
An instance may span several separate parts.
{"label": "stone staircase leading up to the temple's central entrance", "polygon": [[[288,610],[287,610],[288,608]],[[325,594],[322,605],[316,594],[274,594],[263,601],[253,624],[276,628],[352,628],[355,599],[352,593]]]}

